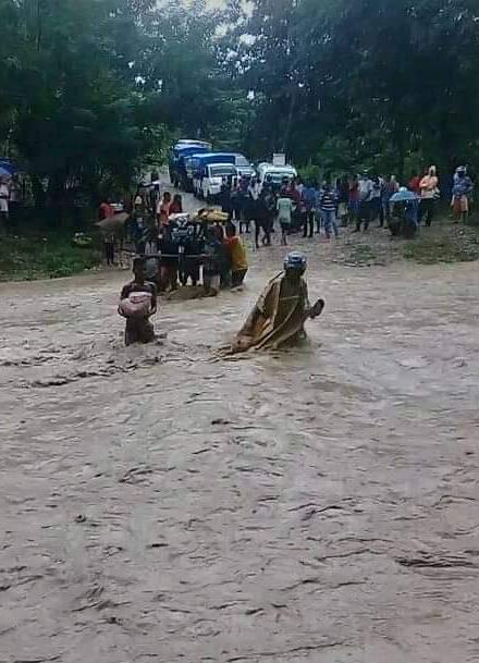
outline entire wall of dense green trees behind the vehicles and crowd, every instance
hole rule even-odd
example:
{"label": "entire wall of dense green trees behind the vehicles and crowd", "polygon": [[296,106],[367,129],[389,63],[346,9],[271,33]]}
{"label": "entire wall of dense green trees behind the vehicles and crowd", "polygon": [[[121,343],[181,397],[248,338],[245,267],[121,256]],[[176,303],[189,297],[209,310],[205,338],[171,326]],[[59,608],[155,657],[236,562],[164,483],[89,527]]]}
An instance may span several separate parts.
{"label": "entire wall of dense green trees behind the vehicles and crowd", "polygon": [[475,164],[477,0],[0,0],[0,144],[38,206],[93,200],[180,135],[409,174]]}

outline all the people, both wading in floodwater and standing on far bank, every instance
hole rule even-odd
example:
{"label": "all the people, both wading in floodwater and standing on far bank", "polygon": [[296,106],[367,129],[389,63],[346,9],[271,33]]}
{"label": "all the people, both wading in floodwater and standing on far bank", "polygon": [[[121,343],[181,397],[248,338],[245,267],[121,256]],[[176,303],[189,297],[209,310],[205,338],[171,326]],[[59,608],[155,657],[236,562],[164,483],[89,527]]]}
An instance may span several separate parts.
{"label": "all the people, both wading in floodwater and standing on far bank", "polygon": [[[467,168],[459,167],[451,191],[451,206],[457,222],[466,220],[472,192]],[[323,232],[330,240],[333,235],[337,237],[340,228],[348,223],[353,224],[353,232],[360,232],[377,221],[379,228],[388,225],[395,234],[396,200],[406,201],[407,210],[414,211],[413,225],[423,221],[430,226],[440,197],[433,165],[422,176],[414,175],[407,186],[401,186],[394,175],[372,176],[367,172],[341,177],[334,185],[327,179],[321,186],[295,179],[282,182],[279,187],[267,181],[259,188],[255,180],[240,180],[234,187],[223,184],[220,204],[224,223],[188,220],[182,224],[180,194],[172,196],[164,192],[160,196],[158,188],[147,194],[138,192],[128,221],[128,233],[137,254],[135,279],[123,288],[119,308],[126,318],[126,344],[146,343],[153,337],[149,319],[156,311],[158,293],[174,291],[189,280],[194,286],[198,285],[201,268],[201,296],[216,296],[221,288],[241,286],[248,270],[241,234],[249,233],[251,224],[257,247],[260,243],[269,246],[277,231],[282,245],[287,245],[294,232],[302,232],[304,237]],[[108,201],[100,206],[103,219],[112,213]],[[108,256],[111,258],[110,249]],[[288,255],[283,277],[268,285],[231,348],[233,353],[277,346],[283,339],[300,334],[305,320],[320,315],[324,303],[319,300],[310,307],[300,278],[305,269],[304,256]],[[284,309],[283,295],[293,302],[294,315]],[[290,324],[292,321],[294,324]]]}

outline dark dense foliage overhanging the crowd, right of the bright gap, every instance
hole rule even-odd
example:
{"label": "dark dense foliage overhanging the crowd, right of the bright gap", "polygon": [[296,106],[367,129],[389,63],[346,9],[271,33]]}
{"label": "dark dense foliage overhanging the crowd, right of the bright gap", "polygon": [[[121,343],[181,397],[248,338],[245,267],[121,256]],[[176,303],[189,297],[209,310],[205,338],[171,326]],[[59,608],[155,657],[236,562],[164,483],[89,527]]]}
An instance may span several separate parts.
{"label": "dark dense foliage overhanging the crowd, right of the bright gap", "polygon": [[477,160],[476,0],[255,0],[247,32],[263,149],[400,173]]}

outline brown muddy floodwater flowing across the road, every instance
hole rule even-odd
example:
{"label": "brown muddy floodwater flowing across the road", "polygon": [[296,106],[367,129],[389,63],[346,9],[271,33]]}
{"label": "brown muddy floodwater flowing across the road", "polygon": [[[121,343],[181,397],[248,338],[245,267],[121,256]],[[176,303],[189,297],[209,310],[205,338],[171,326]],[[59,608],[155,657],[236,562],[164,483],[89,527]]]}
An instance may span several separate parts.
{"label": "brown muddy floodwater flowing across the road", "polygon": [[1,663],[479,660],[478,265],[307,246],[309,342],[238,360],[280,247],[148,347],[127,272],[1,285]]}

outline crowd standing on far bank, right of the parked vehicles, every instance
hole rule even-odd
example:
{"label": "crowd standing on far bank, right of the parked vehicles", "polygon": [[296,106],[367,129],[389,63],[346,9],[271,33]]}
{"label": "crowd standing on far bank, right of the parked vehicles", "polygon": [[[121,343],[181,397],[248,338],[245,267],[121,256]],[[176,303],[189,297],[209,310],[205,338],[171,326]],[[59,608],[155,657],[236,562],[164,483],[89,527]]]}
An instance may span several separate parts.
{"label": "crowd standing on far bank, right of the parked vehicles", "polygon": [[[433,222],[441,191],[437,169],[431,165],[422,175],[414,174],[407,185],[402,186],[395,175],[382,176],[365,171],[358,175],[344,175],[334,183],[327,177],[318,182],[304,183],[300,179],[284,180],[280,186],[271,181],[260,188],[258,182],[240,179],[235,186],[224,184],[220,197],[223,211],[240,224],[240,232],[248,233],[255,224],[255,243],[271,243],[274,219],[281,228],[282,244],[287,243],[292,232],[303,232],[304,237],[312,237],[315,232],[324,233],[329,241],[340,234],[340,228],[352,224],[354,232],[367,231],[378,222],[379,228],[390,226],[394,212],[393,196],[409,192],[415,201],[412,209],[413,222],[430,226]],[[458,167],[451,187],[451,206],[455,220],[465,221],[471,205],[474,183],[467,167]],[[445,192],[447,194],[447,192]],[[401,197],[400,197],[401,199]]]}

